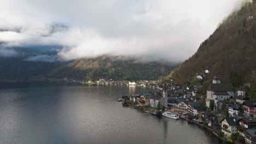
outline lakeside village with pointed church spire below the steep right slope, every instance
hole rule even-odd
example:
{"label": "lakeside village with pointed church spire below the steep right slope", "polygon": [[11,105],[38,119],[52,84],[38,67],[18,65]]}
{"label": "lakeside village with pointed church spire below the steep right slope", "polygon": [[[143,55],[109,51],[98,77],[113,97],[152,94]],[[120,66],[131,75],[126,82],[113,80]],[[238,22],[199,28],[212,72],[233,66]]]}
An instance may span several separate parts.
{"label": "lakeside village with pointed church spire below the steep right slope", "polygon": [[235,88],[216,75],[206,95],[199,94],[196,86],[180,87],[173,79],[158,84],[158,88],[162,92],[123,96],[119,101],[152,115],[185,119],[226,142],[256,143],[256,101],[249,100],[248,85]]}

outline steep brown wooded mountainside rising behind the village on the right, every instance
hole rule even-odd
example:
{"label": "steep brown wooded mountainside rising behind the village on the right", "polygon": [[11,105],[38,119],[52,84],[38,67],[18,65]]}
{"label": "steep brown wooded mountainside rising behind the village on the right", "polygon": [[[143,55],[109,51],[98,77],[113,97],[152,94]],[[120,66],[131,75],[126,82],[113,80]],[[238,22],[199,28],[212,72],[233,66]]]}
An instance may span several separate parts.
{"label": "steep brown wooded mountainside rising behind the village on the right", "polygon": [[[214,75],[222,82],[251,82],[256,74],[256,3],[247,2],[227,17],[197,52],[172,71],[172,77],[185,85],[208,69],[202,84],[208,86]],[[235,78],[234,78],[235,77]],[[234,80],[235,79],[235,80]]]}

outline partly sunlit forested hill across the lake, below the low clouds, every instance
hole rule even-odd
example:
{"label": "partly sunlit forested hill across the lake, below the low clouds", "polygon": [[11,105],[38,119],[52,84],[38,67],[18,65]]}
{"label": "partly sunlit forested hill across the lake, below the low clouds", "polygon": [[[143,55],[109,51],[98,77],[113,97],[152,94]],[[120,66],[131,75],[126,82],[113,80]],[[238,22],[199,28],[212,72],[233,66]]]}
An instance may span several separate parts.
{"label": "partly sunlit forested hill across the lake, below the low clouds", "polygon": [[76,80],[157,80],[167,76],[174,65],[160,62],[137,62],[136,59],[116,57],[81,58],[63,63],[44,76]]}

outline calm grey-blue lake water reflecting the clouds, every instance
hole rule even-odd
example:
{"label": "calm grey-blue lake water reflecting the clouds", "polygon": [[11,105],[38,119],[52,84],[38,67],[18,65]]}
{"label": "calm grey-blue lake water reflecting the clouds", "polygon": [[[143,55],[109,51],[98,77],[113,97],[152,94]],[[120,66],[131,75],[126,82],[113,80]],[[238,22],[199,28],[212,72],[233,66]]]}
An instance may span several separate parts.
{"label": "calm grey-blue lake water reflecting the clouds", "polygon": [[222,143],[187,121],[151,116],[117,99],[143,87],[0,89],[0,143]]}

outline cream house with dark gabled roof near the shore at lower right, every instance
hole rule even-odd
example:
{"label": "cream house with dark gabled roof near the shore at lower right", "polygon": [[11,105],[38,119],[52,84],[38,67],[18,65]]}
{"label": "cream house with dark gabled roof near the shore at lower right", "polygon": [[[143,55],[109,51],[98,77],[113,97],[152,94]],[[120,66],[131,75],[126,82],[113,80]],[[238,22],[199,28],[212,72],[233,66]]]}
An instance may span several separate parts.
{"label": "cream house with dark gabled roof near the shore at lower right", "polygon": [[235,117],[226,117],[220,121],[222,132],[226,136],[231,136],[237,133],[238,122]]}

